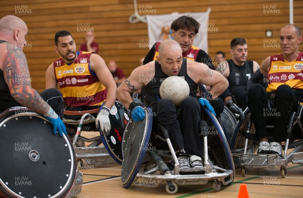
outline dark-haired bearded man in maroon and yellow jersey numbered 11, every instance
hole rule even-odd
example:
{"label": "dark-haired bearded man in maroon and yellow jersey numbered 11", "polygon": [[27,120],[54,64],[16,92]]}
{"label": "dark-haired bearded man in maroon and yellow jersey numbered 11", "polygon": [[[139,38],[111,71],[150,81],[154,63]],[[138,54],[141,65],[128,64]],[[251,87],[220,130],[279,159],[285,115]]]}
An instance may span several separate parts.
{"label": "dark-haired bearded man in maroon and yellow jersey numbered 11", "polygon": [[55,35],[55,50],[61,55],[46,70],[46,88],[59,83],[64,102],[69,107],[99,107],[96,127],[106,135],[110,132],[109,112],[116,100],[116,83],[102,57],[95,53],[76,51],[76,44],[68,31]]}

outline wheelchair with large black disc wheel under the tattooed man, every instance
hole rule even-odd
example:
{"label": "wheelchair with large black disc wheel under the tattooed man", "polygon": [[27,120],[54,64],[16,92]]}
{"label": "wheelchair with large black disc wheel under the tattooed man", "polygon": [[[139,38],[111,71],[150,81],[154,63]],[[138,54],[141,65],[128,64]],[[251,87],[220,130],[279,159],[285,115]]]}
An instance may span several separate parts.
{"label": "wheelchair with large black disc wheel under the tattooed man", "polygon": [[82,175],[69,138],[53,135],[53,125],[26,107],[0,114],[0,195],[74,197]]}

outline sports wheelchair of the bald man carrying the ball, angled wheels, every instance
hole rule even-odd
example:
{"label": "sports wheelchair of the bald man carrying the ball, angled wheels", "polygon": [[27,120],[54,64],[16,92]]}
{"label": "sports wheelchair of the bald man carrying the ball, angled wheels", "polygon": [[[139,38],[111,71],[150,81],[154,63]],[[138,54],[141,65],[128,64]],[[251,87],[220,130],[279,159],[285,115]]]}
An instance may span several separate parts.
{"label": "sports wheelchair of the bald man carrying the ball, angled wheels", "polygon": [[[214,191],[219,191],[221,183],[227,185],[234,178],[234,163],[223,130],[216,117],[204,108],[203,120],[199,127],[205,126],[207,133],[201,133],[201,145],[204,148],[204,167],[193,170],[180,169],[176,154],[168,137],[168,132],[160,126],[164,138],[156,136],[167,143],[169,150],[160,150],[150,146],[153,129],[153,112],[144,107],[143,121],[128,122],[122,141],[121,180],[125,188],[131,185],[157,187],[166,181],[166,191],[174,194],[178,185],[204,185],[212,182]],[[146,155],[148,154],[148,155]],[[173,166],[171,166],[174,164]],[[183,174],[180,174],[180,173]]]}

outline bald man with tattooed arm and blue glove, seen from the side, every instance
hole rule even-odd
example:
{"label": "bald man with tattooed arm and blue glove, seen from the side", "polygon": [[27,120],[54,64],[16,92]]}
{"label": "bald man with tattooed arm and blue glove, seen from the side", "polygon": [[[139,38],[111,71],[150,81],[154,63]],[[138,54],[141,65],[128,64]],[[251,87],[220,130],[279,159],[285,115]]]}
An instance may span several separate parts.
{"label": "bald man with tattooed arm and blue glove, seen from the side", "polygon": [[[40,94],[31,87],[26,57],[27,26],[16,16],[0,20],[0,112],[15,106],[24,106],[45,116],[53,124],[54,135],[66,134],[63,116],[62,94],[48,89]],[[46,101],[46,102],[45,102]],[[54,110],[53,110],[54,108]]]}

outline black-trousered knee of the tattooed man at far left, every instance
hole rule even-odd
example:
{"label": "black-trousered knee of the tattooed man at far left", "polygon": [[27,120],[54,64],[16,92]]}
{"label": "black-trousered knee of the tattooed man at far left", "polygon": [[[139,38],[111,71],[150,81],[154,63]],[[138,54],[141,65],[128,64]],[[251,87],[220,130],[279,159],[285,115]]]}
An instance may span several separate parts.
{"label": "black-trousered knee of the tattooed man at far left", "polygon": [[61,92],[58,89],[45,89],[40,93],[41,98],[54,109],[54,111],[63,118],[64,101]]}

